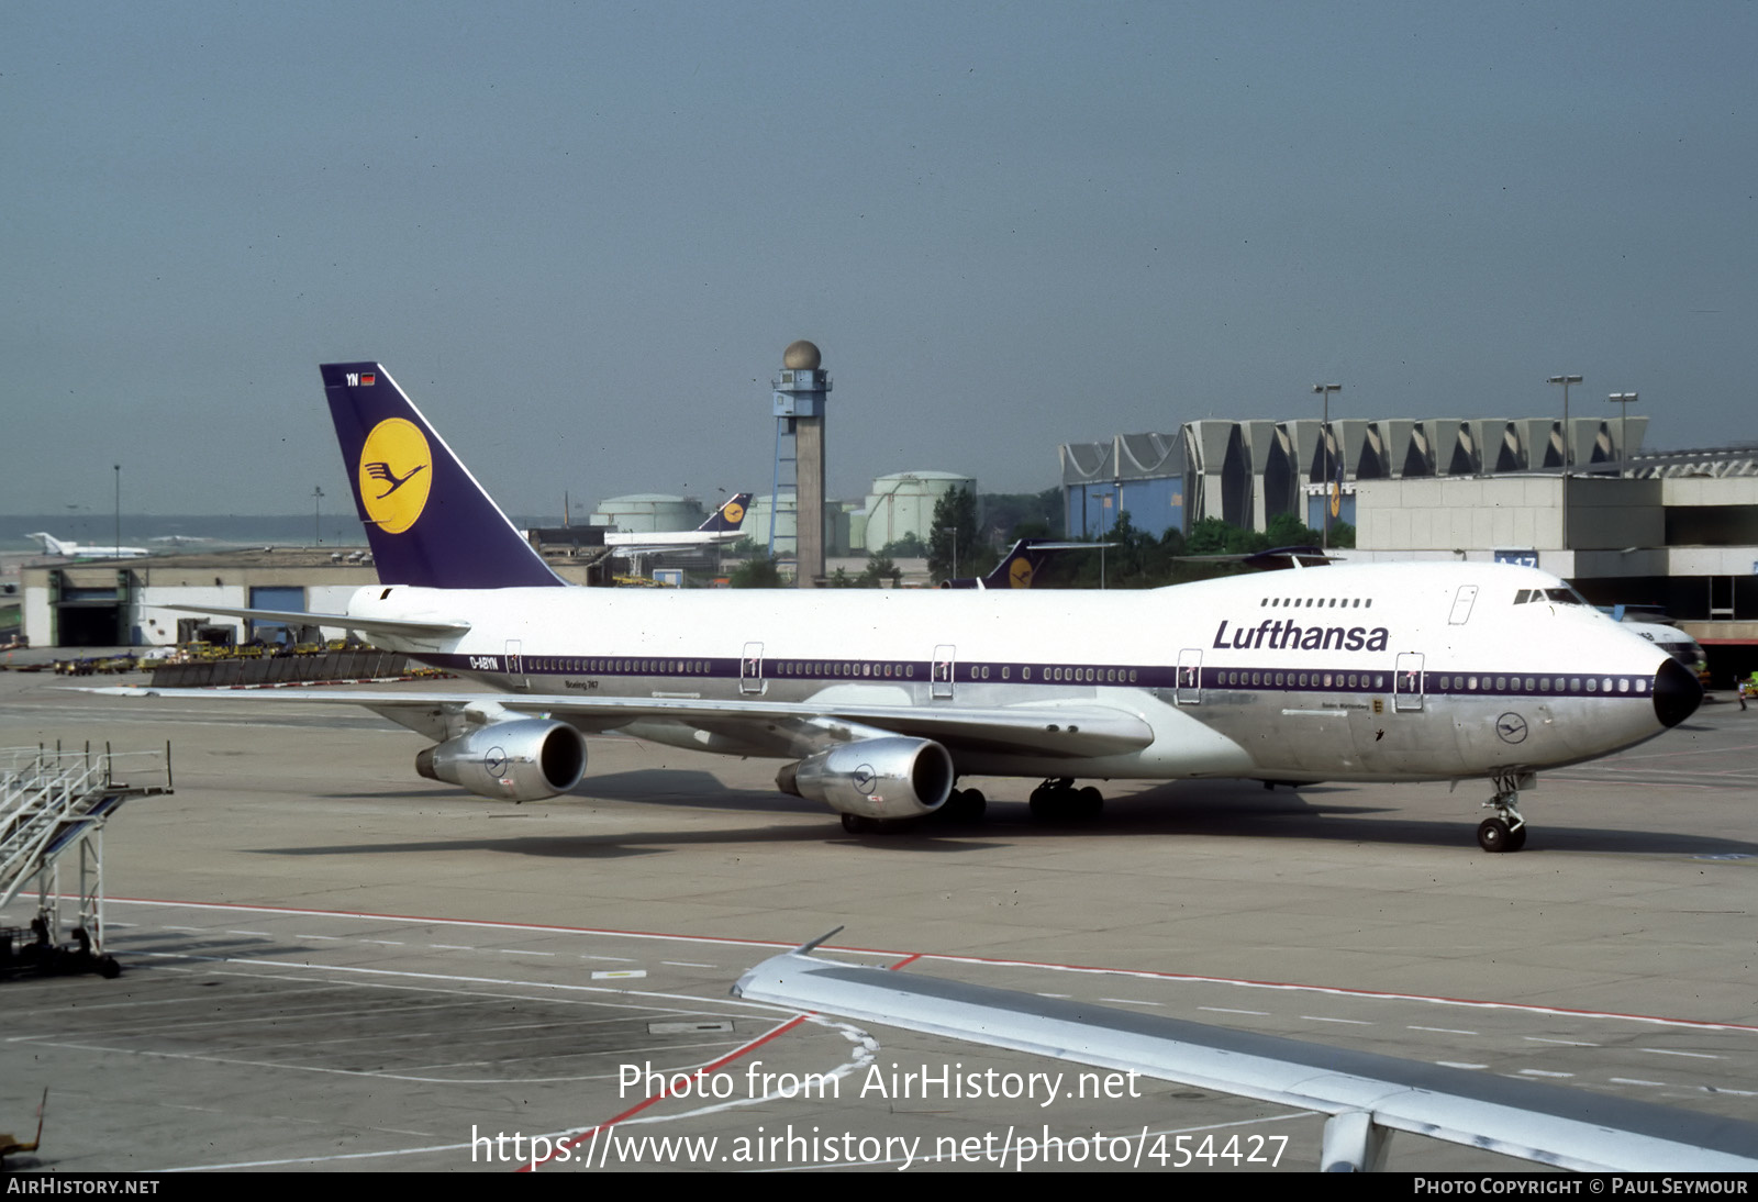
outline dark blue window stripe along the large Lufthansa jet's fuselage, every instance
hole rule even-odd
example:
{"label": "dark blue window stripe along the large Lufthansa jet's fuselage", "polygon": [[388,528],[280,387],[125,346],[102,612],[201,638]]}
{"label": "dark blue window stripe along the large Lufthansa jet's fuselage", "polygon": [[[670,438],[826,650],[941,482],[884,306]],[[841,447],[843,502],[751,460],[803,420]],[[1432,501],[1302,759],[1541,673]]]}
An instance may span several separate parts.
{"label": "dark blue window stripe along the large Lufthansa jet's fuselage", "polygon": [[[510,677],[608,677],[670,680],[839,680],[926,684],[926,659],[795,659],[765,655],[754,664],[737,657],[705,655],[417,655],[452,671]],[[1245,692],[1422,692],[1447,698],[1647,698],[1653,677],[1631,673],[1528,673],[1528,671],[1424,671],[1420,682],[1399,680],[1384,664],[1371,668],[1202,668],[1195,680],[1178,680],[1173,664],[1046,664],[1021,661],[960,661],[956,684],[988,685],[1109,685],[1136,689],[1217,689]],[[1419,687],[1412,687],[1419,685]]]}

